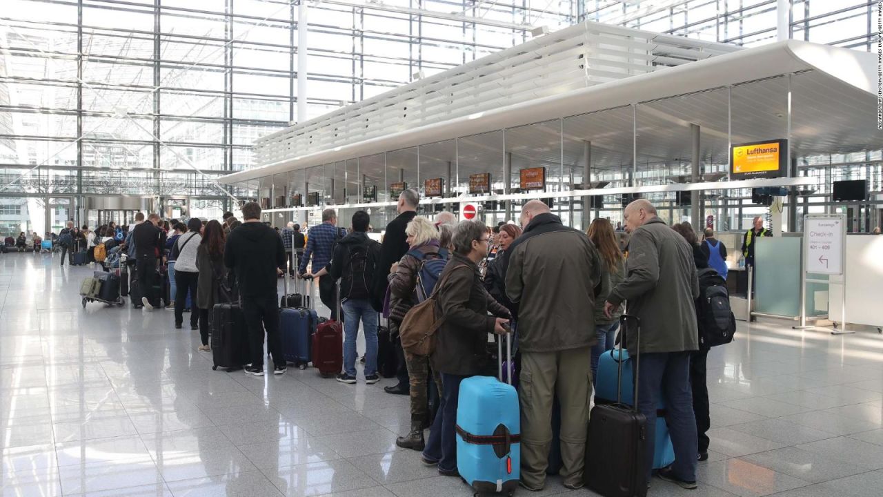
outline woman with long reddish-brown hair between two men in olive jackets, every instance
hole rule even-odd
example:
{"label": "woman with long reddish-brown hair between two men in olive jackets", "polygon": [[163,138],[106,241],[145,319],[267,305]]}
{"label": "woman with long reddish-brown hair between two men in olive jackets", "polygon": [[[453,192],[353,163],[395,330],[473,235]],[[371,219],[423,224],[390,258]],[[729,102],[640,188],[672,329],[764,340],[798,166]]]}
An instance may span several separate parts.
{"label": "woman with long reddish-brown hair between two men in olive jackets", "polygon": [[619,328],[619,317],[623,314],[623,306],[615,309],[610,317],[604,314],[604,302],[610,290],[625,278],[625,257],[616,242],[613,225],[608,219],[596,218],[586,232],[589,240],[601,256],[601,293],[595,297],[595,334],[598,343],[592,346],[592,381],[598,371],[598,358],[613,348],[616,330]]}

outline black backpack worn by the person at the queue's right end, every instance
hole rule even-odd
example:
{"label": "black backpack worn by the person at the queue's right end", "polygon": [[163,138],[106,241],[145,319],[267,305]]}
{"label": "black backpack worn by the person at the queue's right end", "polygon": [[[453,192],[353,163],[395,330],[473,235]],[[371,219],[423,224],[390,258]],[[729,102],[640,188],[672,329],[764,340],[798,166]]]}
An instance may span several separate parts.
{"label": "black backpack worn by the person at the queue's right end", "polygon": [[708,349],[733,341],[736,317],[729,308],[727,281],[712,268],[699,270],[699,298],[696,317],[699,326],[699,348]]}

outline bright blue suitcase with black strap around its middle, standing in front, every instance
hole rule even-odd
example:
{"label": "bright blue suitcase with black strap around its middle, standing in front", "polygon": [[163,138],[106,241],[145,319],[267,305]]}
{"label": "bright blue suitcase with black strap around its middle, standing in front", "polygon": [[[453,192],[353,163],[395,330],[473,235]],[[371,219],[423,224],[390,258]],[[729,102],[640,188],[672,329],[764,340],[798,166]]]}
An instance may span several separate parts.
{"label": "bright blue suitcase with black strap around its middle, standing in front", "polygon": [[[497,343],[502,349],[502,341]],[[502,366],[499,371],[500,379],[473,376],[460,383],[457,470],[477,493],[511,495],[521,474],[521,413],[515,387],[502,383]]]}

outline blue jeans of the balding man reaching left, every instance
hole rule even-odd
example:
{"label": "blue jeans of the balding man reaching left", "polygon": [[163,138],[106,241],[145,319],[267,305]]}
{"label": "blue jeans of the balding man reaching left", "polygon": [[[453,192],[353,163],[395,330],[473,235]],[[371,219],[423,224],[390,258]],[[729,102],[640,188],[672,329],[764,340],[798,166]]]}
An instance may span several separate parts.
{"label": "blue jeans of the balding man reaching left", "polygon": [[638,379],[638,410],[647,418],[647,481],[653,471],[656,442],[656,405],[659,395],[666,401],[668,432],[675,446],[677,478],[696,481],[698,438],[690,385],[690,352],[641,354]]}

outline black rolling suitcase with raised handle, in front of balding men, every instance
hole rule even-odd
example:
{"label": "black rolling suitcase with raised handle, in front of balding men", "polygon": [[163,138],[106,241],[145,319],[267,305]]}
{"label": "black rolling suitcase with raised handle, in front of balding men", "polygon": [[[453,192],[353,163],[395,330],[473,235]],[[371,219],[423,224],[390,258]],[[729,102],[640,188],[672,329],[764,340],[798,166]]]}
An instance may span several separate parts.
{"label": "black rolling suitcase with raised handle, in front of balding men", "polygon": [[[638,333],[638,317],[620,317],[620,347],[627,333]],[[638,374],[640,346],[635,351],[635,407],[621,403],[595,404],[585,440],[585,486],[604,497],[645,497],[647,420],[638,412]],[[616,383],[622,383],[623,363],[619,363]],[[620,388],[616,389],[617,392]]]}

